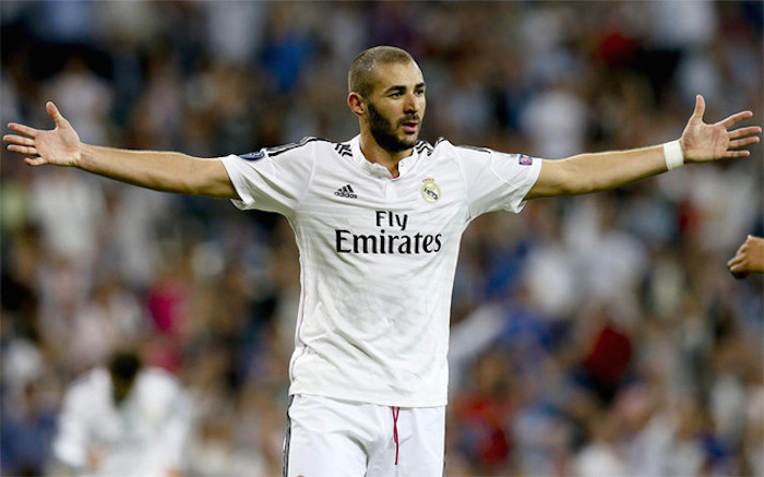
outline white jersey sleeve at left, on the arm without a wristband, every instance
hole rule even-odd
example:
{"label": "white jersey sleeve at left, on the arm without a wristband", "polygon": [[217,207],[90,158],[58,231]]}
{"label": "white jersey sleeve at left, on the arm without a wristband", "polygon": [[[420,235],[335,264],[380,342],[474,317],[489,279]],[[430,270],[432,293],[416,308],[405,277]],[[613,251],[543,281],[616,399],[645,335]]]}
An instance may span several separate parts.
{"label": "white jersey sleeve at left, on the arm without a wristband", "polygon": [[306,141],[220,159],[240,198],[234,205],[284,215],[300,203],[313,169],[312,146]]}

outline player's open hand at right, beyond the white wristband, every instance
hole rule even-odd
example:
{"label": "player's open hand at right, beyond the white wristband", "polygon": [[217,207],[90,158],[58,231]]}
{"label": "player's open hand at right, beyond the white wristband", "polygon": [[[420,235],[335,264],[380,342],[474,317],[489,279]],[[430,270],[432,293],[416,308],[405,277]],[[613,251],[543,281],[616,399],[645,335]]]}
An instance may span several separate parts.
{"label": "player's open hand at right, beyond the white wristband", "polygon": [[751,118],[753,112],[737,112],[715,124],[706,124],[703,122],[705,110],[705,99],[703,99],[703,96],[697,95],[695,98],[695,110],[690,117],[680,139],[684,162],[700,163],[715,159],[731,159],[745,157],[751,154],[749,151],[741,151],[740,148],[757,143],[762,129],[757,126],[732,131],[729,129],[738,122]]}

